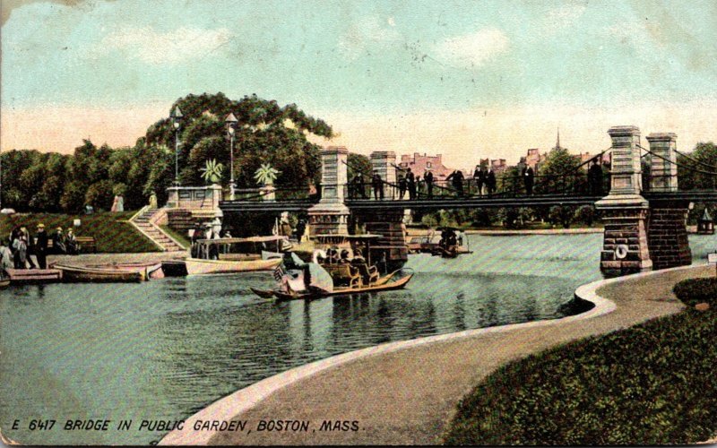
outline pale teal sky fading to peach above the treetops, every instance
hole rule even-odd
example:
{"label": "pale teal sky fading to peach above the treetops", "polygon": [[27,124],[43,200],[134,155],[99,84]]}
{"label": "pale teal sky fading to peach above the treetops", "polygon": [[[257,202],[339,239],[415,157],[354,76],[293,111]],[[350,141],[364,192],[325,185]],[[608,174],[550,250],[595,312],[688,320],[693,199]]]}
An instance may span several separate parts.
{"label": "pale teal sky fading to peach above the treetops", "polygon": [[717,2],[0,0],[0,148],[131,145],[189,93],[296,103],[350,151],[468,168],[613,125],[715,141]]}

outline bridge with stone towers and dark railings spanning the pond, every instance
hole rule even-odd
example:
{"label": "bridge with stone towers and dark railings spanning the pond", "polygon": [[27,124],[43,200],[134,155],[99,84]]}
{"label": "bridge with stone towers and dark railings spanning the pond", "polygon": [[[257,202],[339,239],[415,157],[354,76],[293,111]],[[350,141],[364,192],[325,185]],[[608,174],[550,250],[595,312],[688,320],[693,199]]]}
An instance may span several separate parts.
{"label": "bridge with stone towers and dark railings spanning the pond", "polygon": [[[526,191],[521,179],[504,177],[503,184],[490,194],[479,191],[469,179],[465,188],[437,182],[419,185],[415,194],[411,194],[413,197],[406,198],[405,187],[397,182],[401,168],[395,164],[393,151],[371,154],[373,173],[360,174],[371,177],[377,173],[380,181],[367,184],[348,179],[348,150],[329,147],[322,150],[320,194],[309,195],[305,188],[270,189],[250,197],[221,201],[219,207],[225,217],[256,212],[306,212],[311,235],[348,233],[352,216],[363,222],[368,232],[382,235],[376,250],[383,251],[389,262],[400,264],[407,259],[402,233],[407,210],[594,204],[601,211],[605,226],[600,269],[606,275],[691,263],[686,228],[688,206],[690,202],[717,202],[717,190],[678,189],[677,135],[649,134],[648,149],[640,144],[641,133],[635,126],[615,126],[608,134],[612,145],[600,153],[601,156],[611,152],[607,195],[600,194],[600,185],[587,182],[583,163],[559,178],[536,176],[533,194]],[[645,156],[650,156],[647,185],[643,185],[642,171]]]}

